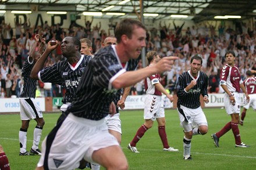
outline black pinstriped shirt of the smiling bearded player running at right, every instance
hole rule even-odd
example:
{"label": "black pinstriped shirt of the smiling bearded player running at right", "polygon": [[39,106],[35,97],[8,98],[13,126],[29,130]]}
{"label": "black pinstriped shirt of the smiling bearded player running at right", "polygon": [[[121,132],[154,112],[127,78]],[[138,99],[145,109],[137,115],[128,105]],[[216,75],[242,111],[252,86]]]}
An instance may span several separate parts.
{"label": "black pinstriped shirt of the smiling bearded player running at right", "polygon": [[[191,88],[189,92],[185,92],[184,89],[187,87],[187,85],[190,84],[190,82],[193,79],[197,80],[197,85]],[[179,76],[178,82],[177,82],[177,97],[178,97],[177,104],[181,104],[182,106],[185,106],[188,108],[200,107],[201,106],[200,95],[208,96],[207,86],[208,86],[208,77],[205,73],[199,71],[197,78],[194,78],[190,74],[190,70],[185,73],[182,73]]]}

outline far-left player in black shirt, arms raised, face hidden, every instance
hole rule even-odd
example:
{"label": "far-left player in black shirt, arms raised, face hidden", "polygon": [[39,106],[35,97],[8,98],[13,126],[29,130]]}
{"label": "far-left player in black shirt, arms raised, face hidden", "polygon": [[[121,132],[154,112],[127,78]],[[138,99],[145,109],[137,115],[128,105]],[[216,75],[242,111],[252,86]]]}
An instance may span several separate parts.
{"label": "far-left player in black shirt, arms raised, face hidden", "polygon": [[[38,145],[42,135],[42,128],[44,127],[44,118],[42,118],[42,111],[38,104],[35,102],[35,91],[37,89],[37,81],[30,78],[31,70],[38,58],[41,56],[42,49],[44,48],[44,40],[41,42],[39,52],[36,51],[37,44],[40,40],[40,35],[35,35],[34,44],[31,49],[31,53],[24,63],[22,68],[22,78],[24,81],[23,90],[20,94],[20,119],[22,120],[22,126],[19,131],[20,140],[20,154],[19,155],[41,155],[41,150],[38,149]],[[27,129],[29,128],[30,120],[35,120],[37,125],[34,129],[33,146],[30,153],[26,150],[27,145]]]}

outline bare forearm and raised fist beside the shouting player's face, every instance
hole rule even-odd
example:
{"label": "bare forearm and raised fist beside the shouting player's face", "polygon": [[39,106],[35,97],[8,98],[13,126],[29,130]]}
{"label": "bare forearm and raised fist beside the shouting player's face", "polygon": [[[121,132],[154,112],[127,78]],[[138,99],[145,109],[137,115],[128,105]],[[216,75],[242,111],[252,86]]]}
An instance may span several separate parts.
{"label": "bare forearm and raised fist beside the shouting player's face", "polygon": [[58,42],[56,43],[56,45],[51,45],[50,42],[51,41],[48,42],[47,49],[45,49],[45,52],[42,54],[40,59],[37,60],[37,63],[35,63],[34,67],[32,68],[30,77],[33,79],[39,79],[38,73],[42,70],[42,68],[44,68],[44,63],[46,62],[47,57],[52,52],[52,50],[56,49],[58,46]]}

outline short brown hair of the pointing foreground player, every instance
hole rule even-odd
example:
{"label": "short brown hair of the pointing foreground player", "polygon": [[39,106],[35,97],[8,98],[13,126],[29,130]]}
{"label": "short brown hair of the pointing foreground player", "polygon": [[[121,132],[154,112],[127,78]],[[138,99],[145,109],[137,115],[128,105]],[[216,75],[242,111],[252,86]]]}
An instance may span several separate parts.
{"label": "short brown hair of the pointing foreground player", "polygon": [[123,19],[121,20],[118,25],[116,26],[115,36],[117,42],[121,42],[122,35],[127,35],[128,38],[131,38],[133,34],[134,27],[137,26],[139,28],[143,28],[146,30],[146,27],[138,20],[135,19]]}

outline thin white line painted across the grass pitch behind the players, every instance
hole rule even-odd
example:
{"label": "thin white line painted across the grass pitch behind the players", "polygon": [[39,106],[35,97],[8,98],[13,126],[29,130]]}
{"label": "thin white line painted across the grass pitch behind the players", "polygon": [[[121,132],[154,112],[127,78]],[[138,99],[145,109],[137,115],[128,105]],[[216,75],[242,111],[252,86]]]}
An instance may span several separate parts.
{"label": "thin white line painted across the grass pitch behind the players", "polygon": [[[19,139],[12,139],[12,138],[0,138],[5,140],[18,140]],[[27,140],[30,142],[33,142],[33,140]],[[127,147],[123,147],[122,149],[127,149]],[[151,150],[151,151],[159,151],[159,149],[140,149],[140,150]],[[182,151],[177,151],[177,153],[183,153]],[[216,155],[216,156],[223,156],[223,157],[239,157],[239,158],[253,158],[256,159],[256,157],[250,157],[250,156],[241,156],[241,155],[229,155],[229,154],[213,154],[213,153],[199,153],[199,152],[193,152],[192,154],[201,154],[201,155]]]}

